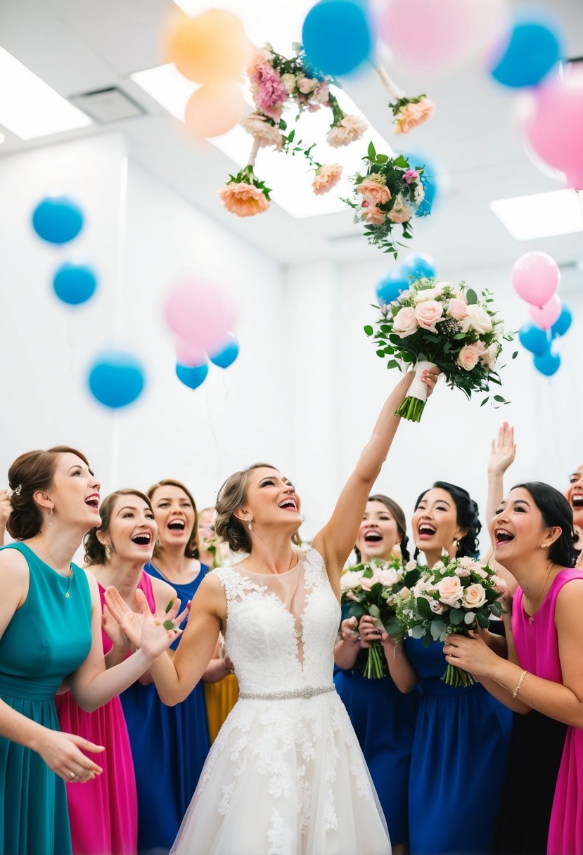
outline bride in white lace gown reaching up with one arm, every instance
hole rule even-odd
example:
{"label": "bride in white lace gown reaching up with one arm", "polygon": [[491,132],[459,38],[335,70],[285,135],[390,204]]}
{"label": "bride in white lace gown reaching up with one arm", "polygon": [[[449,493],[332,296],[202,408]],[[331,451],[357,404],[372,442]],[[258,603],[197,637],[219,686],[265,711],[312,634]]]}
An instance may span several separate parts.
{"label": "bride in white lace gown reaching up with one arm", "polygon": [[[192,691],[219,631],[240,692],[203,767],[176,855],[390,855],[379,800],[333,684],[340,575],[413,374],[389,395],[329,522],[307,551],[292,540],[300,498],[256,463],[219,491],[215,530],[249,553],[203,580],[174,658],[151,666],[165,704]],[[424,372],[431,392],[437,372]],[[139,592],[138,592],[139,593]],[[109,609],[132,639],[139,616],[115,588]],[[168,758],[172,763],[172,758]]]}

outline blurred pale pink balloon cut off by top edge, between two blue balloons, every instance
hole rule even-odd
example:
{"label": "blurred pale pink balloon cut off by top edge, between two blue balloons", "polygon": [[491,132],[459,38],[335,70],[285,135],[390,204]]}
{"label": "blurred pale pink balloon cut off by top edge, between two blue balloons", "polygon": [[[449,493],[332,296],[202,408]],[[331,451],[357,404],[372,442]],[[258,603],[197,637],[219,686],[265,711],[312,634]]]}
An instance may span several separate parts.
{"label": "blurred pale pink balloon cut off by top edge, between two blue balloons", "polygon": [[506,5],[506,0],[387,0],[380,38],[409,68],[451,71],[492,44]]}

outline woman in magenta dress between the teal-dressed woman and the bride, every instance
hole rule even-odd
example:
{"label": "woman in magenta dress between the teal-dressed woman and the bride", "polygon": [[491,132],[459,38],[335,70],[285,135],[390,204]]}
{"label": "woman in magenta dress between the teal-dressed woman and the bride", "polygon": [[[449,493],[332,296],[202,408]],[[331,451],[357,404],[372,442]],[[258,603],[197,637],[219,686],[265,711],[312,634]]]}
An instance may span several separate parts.
{"label": "woman in magenta dress between the teal-dressed woman and the bride", "polygon": [[[118,490],[103,499],[99,512],[101,526],[85,535],[85,562],[97,577],[102,609],[105,589],[113,585],[138,611],[136,587],[156,542],[150,500],[136,490]],[[157,596],[149,597],[148,602],[152,611],[163,612],[175,593],[163,581],[154,585]],[[130,652],[127,639],[119,624],[110,616],[108,619],[107,610],[103,625],[106,663],[123,661]],[[62,730],[108,748],[102,775],[83,786],[78,782],[67,785],[74,855],[133,855],[138,851],[138,803],[132,750],[119,697],[94,712],[82,710],[70,692],[58,695],[55,705]]]}

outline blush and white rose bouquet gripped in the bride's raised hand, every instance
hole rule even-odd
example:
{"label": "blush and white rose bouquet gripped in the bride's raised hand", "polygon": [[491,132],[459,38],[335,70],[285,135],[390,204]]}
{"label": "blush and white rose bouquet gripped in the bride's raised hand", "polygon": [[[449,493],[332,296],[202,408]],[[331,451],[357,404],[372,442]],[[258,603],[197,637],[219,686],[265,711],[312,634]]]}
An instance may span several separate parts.
{"label": "blush and white rose bouquet gripped in the bride's raised hand", "polygon": [[[427,400],[421,374],[434,366],[444,374],[448,386],[461,389],[468,398],[472,392],[488,392],[491,383],[501,385],[498,357],[503,340],[512,341],[514,334],[504,333],[492,303],[488,291],[482,292],[480,300],[464,282],[454,286],[432,277],[416,280],[396,300],[380,307],[376,330],[364,327],[374,340],[377,355],[391,357],[389,369],[415,366],[415,379],[397,416],[410,422],[421,420]],[[486,404],[488,398],[481,403]],[[493,398],[498,404],[508,404],[502,395]]]}

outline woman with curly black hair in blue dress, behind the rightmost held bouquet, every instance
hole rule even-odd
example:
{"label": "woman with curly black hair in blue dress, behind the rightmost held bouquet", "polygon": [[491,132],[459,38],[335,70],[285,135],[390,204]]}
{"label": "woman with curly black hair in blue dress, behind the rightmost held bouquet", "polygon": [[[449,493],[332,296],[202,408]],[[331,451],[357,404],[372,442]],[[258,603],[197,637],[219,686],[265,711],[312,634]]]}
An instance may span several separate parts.
{"label": "woman with curly black hair in blue dress, behind the rightmost held bouquet", "polygon": [[[422,551],[428,567],[442,549],[451,557],[478,551],[478,507],[459,486],[436,481],[422,492],[412,528],[415,556]],[[439,641],[426,647],[408,637],[387,661],[402,692],[422,689],[409,776],[411,855],[486,855],[506,773],[509,710],[480,683],[443,682]]]}

